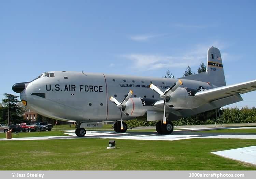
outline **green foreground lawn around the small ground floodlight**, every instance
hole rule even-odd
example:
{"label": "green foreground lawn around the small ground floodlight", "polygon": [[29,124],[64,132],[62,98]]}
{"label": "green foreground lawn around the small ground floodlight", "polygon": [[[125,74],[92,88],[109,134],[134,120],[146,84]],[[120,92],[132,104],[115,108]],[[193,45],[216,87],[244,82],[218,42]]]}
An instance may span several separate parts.
{"label": "green foreground lawn around the small ground floodlight", "polygon": [[0,141],[0,170],[256,170],[211,152],[256,145],[254,139]]}

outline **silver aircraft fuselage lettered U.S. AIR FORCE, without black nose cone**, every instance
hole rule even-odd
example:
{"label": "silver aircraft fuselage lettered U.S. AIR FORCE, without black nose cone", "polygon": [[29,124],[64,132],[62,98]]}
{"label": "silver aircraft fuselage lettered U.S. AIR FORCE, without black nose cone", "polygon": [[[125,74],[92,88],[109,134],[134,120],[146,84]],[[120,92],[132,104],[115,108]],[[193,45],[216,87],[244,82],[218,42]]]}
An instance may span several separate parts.
{"label": "silver aircraft fuselage lettered U.S. AIR FORCE, without black nose cone", "polygon": [[[120,110],[109,99],[113,96],[118,101],[125,98],[129,90],[132,98],[144,98],[152,101],[161,100],[159,95],[149,88],[156,85],[162,91],[173,86],[177,79],[134,77],[97,73],[81,73],[71,71],[53,71],[52,77],[40,77],[25,83],[20,92],[20,99],[27,106],[44,116],[63,121],[101,122],[120,120]],[[181,88],[196,91],[208,90],[216,86],[196,80],[182,79]],[[186,96],[189,108],[197,108],[199,104],[195,96]],[[190,103],[190,104],[189,104]],[[182,102],[184,104],[184,101]],[[171,105],[171,102],[169,102]],[[152,107],[152,106],[149,106]],[[186,106],[182,106],[186,108]],[[124,120],[134,119],[123,116]]]}

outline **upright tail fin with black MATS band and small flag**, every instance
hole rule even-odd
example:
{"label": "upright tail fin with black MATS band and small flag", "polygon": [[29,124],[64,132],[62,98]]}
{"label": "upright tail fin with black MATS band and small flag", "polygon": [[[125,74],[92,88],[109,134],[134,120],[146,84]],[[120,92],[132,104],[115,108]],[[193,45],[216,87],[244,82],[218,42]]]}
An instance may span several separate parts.
{"label": "upright tail fin with black MATS band and small flag", "polygon": [[185,76],[180,79],[191,79],[203,82],[210,82],[212,85],[218,87],[226,86],[221,52],[219,51],[219,49],[215,47],[211,47],[208,49],[206,72]]}

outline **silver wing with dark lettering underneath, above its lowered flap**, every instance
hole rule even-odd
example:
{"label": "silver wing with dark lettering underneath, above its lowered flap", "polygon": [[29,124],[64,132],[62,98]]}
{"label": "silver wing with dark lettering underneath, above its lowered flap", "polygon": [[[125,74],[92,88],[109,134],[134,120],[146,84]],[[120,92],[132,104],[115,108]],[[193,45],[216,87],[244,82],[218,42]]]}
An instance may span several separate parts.
{"label": "silver wing with dark lettering underneath, above its lowered flap", "polygon": [[213,88],[205,91],[200,91],[195,94],[197,98],[205,101],[214,101],[226,98],[231,95],[243,94],[256,90],[256,80],[247,81],[235,85],[228,85],[218,88]]}

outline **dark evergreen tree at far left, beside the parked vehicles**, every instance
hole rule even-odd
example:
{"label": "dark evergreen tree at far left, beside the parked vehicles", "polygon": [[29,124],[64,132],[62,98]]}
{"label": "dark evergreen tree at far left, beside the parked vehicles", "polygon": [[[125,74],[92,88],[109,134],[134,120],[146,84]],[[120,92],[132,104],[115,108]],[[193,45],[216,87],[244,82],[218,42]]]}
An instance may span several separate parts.
{"label": "dark evergreen tree at far left, beside the parked vehicles", "polygon": [[[24,121],[23,118],[23,109],[22,107],[18,106],[17,103],[20,101],[17,99],[19,96],[15,96],[13,94],[4,94],[5,99],[2,99],[2,103],[5,107],[2,110],[2,121],[3,123],[8,123],[8,109],[10,105],[10,123],[20,123]],[[9,103],[9,96],[10,96],[10,103]]]}

